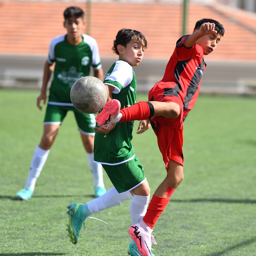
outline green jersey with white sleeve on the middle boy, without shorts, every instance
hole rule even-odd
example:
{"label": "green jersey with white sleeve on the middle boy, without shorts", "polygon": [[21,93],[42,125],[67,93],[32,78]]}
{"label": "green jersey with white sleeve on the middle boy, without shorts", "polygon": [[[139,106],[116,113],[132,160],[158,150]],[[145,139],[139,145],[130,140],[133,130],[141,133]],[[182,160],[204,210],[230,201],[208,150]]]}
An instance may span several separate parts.
{"label": "green jersey with white sleeve on the middle boy, without shorts", "polygon": [[[119,60],[107,72],[104,84],[114,87],[112,97],[118,99],[121,108],[136,103],[137,81],[132,66]],[[108,134],[96,132],[94,139],[94,161],[116,165],[134,158],[131,144],[134,121],[117,123]]]}

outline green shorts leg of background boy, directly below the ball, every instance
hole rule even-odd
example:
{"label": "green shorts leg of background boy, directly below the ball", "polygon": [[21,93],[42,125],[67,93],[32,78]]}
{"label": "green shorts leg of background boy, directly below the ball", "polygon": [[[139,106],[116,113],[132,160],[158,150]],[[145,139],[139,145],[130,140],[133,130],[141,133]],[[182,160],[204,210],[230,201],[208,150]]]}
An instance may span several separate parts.
{"label": "green shorts leg of background boy, directly below the ball", "polygon": [[75,107],[73,108],[78,129],[85,135],[94,135],[95,131],[93,128],[96,125],[94,114],[85,114],[78,111]]}

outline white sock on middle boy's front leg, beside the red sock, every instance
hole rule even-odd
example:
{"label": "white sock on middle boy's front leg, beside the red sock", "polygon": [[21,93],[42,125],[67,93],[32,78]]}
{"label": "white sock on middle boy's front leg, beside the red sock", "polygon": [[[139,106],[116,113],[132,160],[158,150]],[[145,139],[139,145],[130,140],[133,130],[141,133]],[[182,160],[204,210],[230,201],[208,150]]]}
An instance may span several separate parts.
{"label": "white sock on middle boy's front leg, beside the red sock", "polygon": [[150,195],[133,195],[130,203],[132,225],[139,223],[147,212]]}

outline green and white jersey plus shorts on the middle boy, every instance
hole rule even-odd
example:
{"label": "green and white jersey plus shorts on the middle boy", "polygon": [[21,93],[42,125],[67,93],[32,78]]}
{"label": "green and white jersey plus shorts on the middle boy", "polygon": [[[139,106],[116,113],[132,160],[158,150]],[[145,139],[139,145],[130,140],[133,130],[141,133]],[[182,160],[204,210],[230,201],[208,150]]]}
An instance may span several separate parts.
{"label": "green and white jersey plus shorts on the middle boy", "polygon": [[[121,108],[136,103],[137,81],[127,62],[115,62],[107,72],[104,84],[114,87],[112,97],[120,101]],[[103,165],[119,193],[131,190],[145,180],[131,143],[133,124],[134,121],[117,123],[108,134],[95,134],[94,162]]]}

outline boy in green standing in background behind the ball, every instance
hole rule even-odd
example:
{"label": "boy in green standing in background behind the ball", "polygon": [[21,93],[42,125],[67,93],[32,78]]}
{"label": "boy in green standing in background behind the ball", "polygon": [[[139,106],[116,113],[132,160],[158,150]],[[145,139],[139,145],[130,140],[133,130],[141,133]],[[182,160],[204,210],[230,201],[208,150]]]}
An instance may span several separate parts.
{"label": "boy in green standing in background behind the ball", "polygon": [[88,76],[90,66],[94,69],[94,76],[103,81],[103,70],[97,42],[92,37],[82,33],[85,28],[84,16],[83,10],[79,7],[68,7],[64,11],[64,27],[67,29],[67,34],[55,37],[50,43],[48,60],[44,66],[41,94],[37,98],[37,107],[41,110],[41,101],[43,101],[43,104],[46,103],[47,83],[51,76],[53,64],[55,64],[43,135],[39,146],[35,149],[24,189],[16,194],[20,200],[31,198],[36,180],[41,173],[58,129],[68,111],[73,111],[76,117],[78,130],[87,152],[94,180],[95,196],[101,196],[106,192],[103,183],[102,166],[93,162],[95,116],[77,111],[70,99],[70,89],[73,83],[83,76]]}

